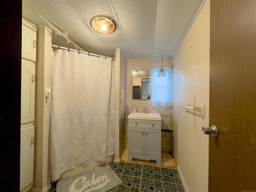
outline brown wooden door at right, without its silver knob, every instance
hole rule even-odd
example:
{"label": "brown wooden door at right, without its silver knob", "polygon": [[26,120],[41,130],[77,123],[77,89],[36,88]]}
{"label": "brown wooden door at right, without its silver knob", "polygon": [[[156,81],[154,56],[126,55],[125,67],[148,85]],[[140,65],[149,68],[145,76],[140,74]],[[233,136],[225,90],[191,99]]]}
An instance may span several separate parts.
{"label": "brown wooden door at right, without its silver knob", "polygon": [[209,192],[256,190],[256,1],[210,4]]}

